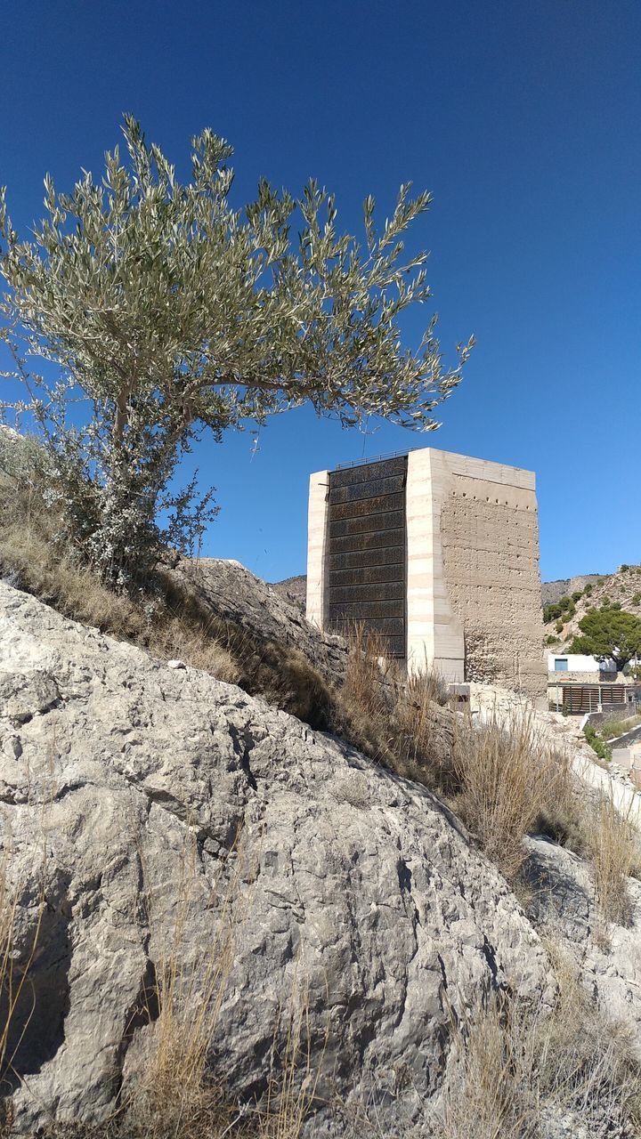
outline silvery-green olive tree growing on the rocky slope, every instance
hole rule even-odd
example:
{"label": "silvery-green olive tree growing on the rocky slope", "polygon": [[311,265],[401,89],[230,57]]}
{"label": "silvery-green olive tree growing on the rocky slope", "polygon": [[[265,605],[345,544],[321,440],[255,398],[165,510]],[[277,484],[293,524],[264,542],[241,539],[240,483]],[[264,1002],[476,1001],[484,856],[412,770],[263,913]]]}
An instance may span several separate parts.
{"label": "silvery-green olive tree growing on the rocky slope", "polygon": [[404,255],[429,194],[401,186],[380,229],[368,197],[358,243],[314,181],[297,200],[261,180],[236,208],[233,150],[210,130],[193,140],[186,185],[133,118],[123,133],[127,154],[107,153],[99,181],[83,172],[63,194],[44,179],[29,239],[0,196],[17,407],[38,423],[68,538],[116,584],[209,518],[194,484],[168,492],[204,429],[220,440],[306,402],[346,426],[380,416],[431,429],[472,343],[444,367],[432,318],[416,351],[401,346],[400,313],[430,296],[427,254]]}

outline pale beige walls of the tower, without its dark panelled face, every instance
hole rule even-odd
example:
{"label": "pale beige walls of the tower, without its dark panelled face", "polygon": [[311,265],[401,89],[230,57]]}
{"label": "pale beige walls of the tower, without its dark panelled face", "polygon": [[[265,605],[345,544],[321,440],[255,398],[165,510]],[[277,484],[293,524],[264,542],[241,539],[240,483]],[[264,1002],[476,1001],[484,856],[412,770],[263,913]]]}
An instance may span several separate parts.
{"label": "pale beige walls of the tower, without its dark panelled face", "polygon": [[[324,624],[327,473],[310,480],[308,617]],[[324,495],[324,497],[323,497]],[[407,458],[406,658],[545,696],[532,472],[433,448]]]}

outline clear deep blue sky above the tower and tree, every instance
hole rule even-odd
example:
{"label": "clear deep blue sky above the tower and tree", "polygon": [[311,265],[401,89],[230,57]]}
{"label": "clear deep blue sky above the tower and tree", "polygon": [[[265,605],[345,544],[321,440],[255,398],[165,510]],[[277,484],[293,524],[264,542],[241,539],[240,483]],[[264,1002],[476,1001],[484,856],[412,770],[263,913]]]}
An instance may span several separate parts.
{"label": "clear deep blue sky above the tower and tree", "polygon": [[[441,429],[342,432],[299,410],[195,454],[221,507],[203,552],[305,572],[313,470],[440,446],[537,473],[542,575],[641,562],[641,5],[638,0],[6,0],[0,182],[17,228],[42,177],[71,188],[132,112],[187,173],[211,126],[258,178],[314,175],[354,231],[401,181],[435,202],[416,238],[446,360],[471,333]],[[417,339],[432,309],[406,328]]]}

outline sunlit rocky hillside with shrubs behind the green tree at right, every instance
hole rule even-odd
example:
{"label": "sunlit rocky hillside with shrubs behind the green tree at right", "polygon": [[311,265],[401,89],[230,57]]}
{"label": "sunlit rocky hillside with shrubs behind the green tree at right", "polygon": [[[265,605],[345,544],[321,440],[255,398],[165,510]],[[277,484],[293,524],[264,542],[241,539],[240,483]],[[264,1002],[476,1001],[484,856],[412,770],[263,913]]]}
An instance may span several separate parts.
{"label": "sunlit rocky hillside with shrubs behind the green tree at right", "polygon": [[[581,581],[583,579],[571,579]],[[615,603],[641,616],[641,566],[620,566],[616,573],[591,577],[583,587],[561,595],[544,608],[545,632],[550,647],[568,648],[581,636],[578,623],[589,608]]]}

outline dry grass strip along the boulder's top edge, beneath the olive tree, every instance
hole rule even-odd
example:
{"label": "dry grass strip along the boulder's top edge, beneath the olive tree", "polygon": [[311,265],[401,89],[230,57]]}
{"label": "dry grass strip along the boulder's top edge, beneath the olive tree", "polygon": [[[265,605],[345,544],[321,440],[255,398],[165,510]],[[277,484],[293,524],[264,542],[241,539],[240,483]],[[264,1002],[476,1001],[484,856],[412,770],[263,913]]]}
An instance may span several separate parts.
{"label": "dry grass strip along the boulder's top edge, beneath the olive tree", "polygon": [[0,477],[0,573],[11,583],[160,659],[178,657],[314,728],[331,727],[330,688],[300,652],[219,618],[186,583],[167,574],[159,573],[137,598],[115,593],[73,550],[56,546],[55,532],[42,503]]}

